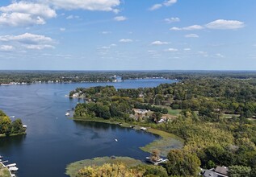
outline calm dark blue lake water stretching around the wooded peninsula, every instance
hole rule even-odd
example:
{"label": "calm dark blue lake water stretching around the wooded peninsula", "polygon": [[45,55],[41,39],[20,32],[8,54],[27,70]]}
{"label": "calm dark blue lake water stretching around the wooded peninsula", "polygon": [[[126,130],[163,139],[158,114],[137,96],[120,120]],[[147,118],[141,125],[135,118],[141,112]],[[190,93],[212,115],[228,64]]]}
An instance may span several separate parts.
{"label": "calm dark blue lake water stretching around the wooded peninsula", "polygon": [[[66,176],[68,163],[100,156],[144,159],[139,149],[157,137],[141,131],[65,117],[78,100],[65,97],[77,87],[114,85],[115,88],[155,87],[173,80],[127,80],[120,83],[31,84],[0,87],[0,109],[20,117],[27,135],[0,138],[0,154],[17,163],[19,177]],[[119,141],[115,142],[115,138]]]}

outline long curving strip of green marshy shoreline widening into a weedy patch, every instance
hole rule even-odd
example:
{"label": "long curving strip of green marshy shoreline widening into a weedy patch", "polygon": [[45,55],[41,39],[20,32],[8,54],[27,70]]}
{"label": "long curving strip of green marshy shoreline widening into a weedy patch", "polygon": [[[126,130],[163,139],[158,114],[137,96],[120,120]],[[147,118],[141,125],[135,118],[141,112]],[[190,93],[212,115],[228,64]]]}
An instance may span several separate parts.
{"label": "long curving strip of green marshy shoreline widening into a weedy patch", "polygon": [[[170,134],[163,130],[158,130],[155,128],[152,128],[149,124],[143,124],[138,122],[132,122],[128,123],[125,121],[117,121],[117,120],[105,120],[102,118],[89,118],[89,119],[83,119],[83,118],[70,118],[73,121],[94,121],[99,123],[107,123],[107,124],[113,124],[118,125],[124,128],[130,128],[131,126],[134,126],[133,130],[141,130],[141,126],[146,127],[146,130],[143,130],[150,134],[156,134],[160,138],[155,139],[153,142],[150,142],[149,144],[146,144],[145,146],[139,147],[141,150],[145,152],[151,153],[152,150],[158,149],[161,151],[162,157],[167,157],[168,152],[170,149],[181,149],[184,146],[184,140],[182,138],[179,138],[175,134]],[[142,131],[142,130],[141,130]]]}

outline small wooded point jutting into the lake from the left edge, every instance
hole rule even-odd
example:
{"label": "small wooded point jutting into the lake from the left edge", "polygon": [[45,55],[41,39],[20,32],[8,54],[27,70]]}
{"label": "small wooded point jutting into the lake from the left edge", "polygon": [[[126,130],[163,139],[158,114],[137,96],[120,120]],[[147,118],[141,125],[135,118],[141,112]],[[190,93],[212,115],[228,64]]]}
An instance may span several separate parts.
{"label": "small wooded point jutting into the lake from the left edge", "polygon": [[23,123],[20,119],[11,121],[10,117],[0,110],[0,137],[25,134],[26,129],[23,128]]}

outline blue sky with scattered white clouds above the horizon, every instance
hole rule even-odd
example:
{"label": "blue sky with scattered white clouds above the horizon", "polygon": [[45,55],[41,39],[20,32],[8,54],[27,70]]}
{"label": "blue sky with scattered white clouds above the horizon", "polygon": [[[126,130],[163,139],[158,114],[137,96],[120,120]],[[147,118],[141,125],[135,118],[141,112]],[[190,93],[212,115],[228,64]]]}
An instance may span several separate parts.
{"label": "blue sky with scattered white clouds above the horizon", "polygon": [[255,70],[255,0],[0,1],[1,70]]}

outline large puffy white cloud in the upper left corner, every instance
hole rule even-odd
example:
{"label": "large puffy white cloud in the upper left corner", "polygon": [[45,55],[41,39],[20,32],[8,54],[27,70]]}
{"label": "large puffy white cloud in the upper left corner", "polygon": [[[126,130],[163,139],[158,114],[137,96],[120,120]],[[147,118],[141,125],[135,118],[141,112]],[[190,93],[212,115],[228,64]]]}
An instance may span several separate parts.
{"label": "large puffy white cloud in the upper left corner", "polygon": [[55,10],[47,5],[23,1],[2,6],[0,12],[0,25],[11,27],[43,25],[45,19],[52,19],[57,16]]}

